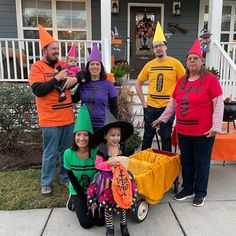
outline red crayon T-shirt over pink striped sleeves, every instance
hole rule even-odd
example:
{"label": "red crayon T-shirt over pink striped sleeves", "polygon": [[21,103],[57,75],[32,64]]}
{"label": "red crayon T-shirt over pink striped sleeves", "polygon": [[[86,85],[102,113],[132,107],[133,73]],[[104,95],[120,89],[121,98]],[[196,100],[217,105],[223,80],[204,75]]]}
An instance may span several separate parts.
{"label": "red crayon T-shirt over pink striped sleeves", "polygon": [[211,73],[195,81],[187,81],[184,88],[182,77],[174,90],[176,100],[176,130],[180,134],[202,136],[212,127],[212,99],[222,94],[219,81]]}

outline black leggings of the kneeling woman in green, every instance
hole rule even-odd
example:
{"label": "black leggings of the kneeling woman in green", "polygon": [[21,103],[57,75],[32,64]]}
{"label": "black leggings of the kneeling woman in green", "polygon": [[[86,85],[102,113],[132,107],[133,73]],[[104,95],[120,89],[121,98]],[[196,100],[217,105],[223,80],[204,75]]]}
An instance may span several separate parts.
{"label": "black leggings of the kneeling woman in green", "polygon": [[103,226],[106,224],[104,218],[104,210],[98,211],[98,208],[95,210],[94,217],[92,212],[88,212],[87,207],[87,197],[86,195],[78,196],[78,195],[71,195],[77,218],[79,220],[80,225],[85,228],[91,228],[93,225]]}

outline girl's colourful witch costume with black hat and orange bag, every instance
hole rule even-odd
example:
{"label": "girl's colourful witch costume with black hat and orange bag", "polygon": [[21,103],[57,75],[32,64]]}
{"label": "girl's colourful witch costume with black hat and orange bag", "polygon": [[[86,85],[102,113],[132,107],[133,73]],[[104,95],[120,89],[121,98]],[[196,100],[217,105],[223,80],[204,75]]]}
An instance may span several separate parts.
{"label": "girl's colourful witch costume with black hat and orange bag", "polygon": [[[111,136],[115,135],[112,133],[114,130],[111,130],[111,134],[107,138],[107,134],[112,128],[116,130],[116,136],[119,137],[116,138],[117,142],[125,141],[134,132],[132,124],[125,121],[117,121],[110,111],[106,110],[105,125],[94,134],[95,143],[100,143],[95,164],[100,172],[95,176],[93,183],[88,188],[88,205],[91,208],[93,203],[98,201],[100,209],[104,209],[107,226],[106,235],[114,235],[113,212],[115,211],[121,216],[120,227],[122,235],[129,236],[126,209],[134,208],[137,202],[137,185],[134,179],[130,180],[131,177],[123,164],[112,167],[108,162],[111,157],[114,160],[114,156],[119,160],[119,155],[121,155],[120,151],[113,155],[108,150],[109,147],[116,147],[115,149],[118,151],[118,144],[111,141]],[[120,128],[120,132],[116,128]]]}

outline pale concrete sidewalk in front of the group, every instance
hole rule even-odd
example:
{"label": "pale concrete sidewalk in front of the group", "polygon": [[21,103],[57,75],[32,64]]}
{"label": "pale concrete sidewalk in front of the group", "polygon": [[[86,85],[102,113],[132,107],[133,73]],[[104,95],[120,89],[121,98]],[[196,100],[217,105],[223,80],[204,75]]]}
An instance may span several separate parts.
{"label": "pale concrete sidewalk in front of the group", "polygon": [[[173,189],[161,203],[150,206],[143,223],[128,216],[131,236],[232,236],[236,235],[236,165],[211,165],[208,196],[202,207],[191,200],[176,202]],[[121,235],[115,219],[116,235]],[[0,235],[100,236],[105,227],[84,230],[75,213],[65,208],[0,211]]]}

